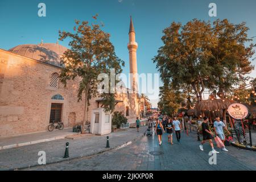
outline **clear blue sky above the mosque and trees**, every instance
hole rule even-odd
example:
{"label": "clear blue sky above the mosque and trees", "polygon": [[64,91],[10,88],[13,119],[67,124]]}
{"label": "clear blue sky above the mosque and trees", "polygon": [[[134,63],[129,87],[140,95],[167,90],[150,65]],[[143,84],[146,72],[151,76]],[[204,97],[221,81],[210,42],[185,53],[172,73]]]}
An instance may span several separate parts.
{"label": "clear blue sky above the mosque and trees", "polygon": [[[38,4],[46,3],[46,17],[38,16]],[[209,17],[208,5],[217,4],[217,17]],[[162,46],[162,31],[171,22],[187,23],[193,18],[213,21],[227,18],[232,23],[245,21],[249,36],[256,35],[256,1],[171,1],[171,0],[31,0],[0,1],[0,48],[10,49],[19,44],[55,43],[58,31],[72,31],[74,20],[89,20],[98,14],[104,31],[109,32],[117,55],[125,61],[124,73],[129,72],[127,51],[129,19],[133,16],[136,39],[138,73],[158,73],[152,58]],[[256,43],[256,39],[254,39]],[[60,42],[68,47],[68,42]],[[250,74],[256,77],[256,72]],[[152,101],[156,106],[157,101]]]}

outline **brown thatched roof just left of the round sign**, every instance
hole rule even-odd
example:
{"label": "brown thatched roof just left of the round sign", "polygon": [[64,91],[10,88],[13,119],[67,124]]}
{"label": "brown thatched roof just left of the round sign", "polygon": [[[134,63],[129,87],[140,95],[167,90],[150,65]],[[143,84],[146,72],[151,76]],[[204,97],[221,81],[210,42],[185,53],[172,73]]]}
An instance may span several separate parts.
{"label": "brown thatched roof just left of the round sign", "polygon": [[196,105],[197,111],[219,111],[222,109],[228,109],[230,104],[237,103],[232,100],[204,100],[200,101],[199,104]]}

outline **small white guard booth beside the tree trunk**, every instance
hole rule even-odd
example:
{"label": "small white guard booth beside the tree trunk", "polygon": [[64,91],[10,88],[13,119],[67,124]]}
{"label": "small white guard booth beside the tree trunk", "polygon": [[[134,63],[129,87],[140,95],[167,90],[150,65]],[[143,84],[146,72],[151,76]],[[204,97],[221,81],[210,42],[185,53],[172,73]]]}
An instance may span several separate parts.
{"label": "small white guard booth beside the tree trunk", "polygon": [[103,108],[93,109],[91,118],[90,133],[97,135],[107,135],[111,133],[112,114],[110,114],[110,112],[105,112]]}

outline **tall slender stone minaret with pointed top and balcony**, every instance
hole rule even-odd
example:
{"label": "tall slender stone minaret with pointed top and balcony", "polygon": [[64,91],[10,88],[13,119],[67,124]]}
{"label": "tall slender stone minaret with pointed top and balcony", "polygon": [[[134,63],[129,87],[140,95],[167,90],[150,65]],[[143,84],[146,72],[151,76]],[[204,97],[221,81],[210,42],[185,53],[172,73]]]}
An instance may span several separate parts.
{"label": "tall slender stone minaret with pointed top and balcony", "polygon": [[138,44],[135,42],[135,31],[133,27],[133,20],[130,21],[129,30],[129,43],[127,48],[129,49],[129,61],[130,61],[130,73],[131,76],[131,89],[138,92],[138,76],[137,76],[137,48]]}

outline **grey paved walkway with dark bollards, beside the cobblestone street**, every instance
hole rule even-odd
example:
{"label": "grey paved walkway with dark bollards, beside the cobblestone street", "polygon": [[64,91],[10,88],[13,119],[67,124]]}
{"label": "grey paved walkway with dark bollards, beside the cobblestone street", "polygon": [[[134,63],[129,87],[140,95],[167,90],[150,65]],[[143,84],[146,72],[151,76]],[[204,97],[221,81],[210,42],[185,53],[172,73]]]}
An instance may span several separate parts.
{"label": "grey paved walkway with dark bollards, beside the cobblestone street", "polygon": [[[105,148],[106,136],[89,135],[81,139],[72,140],[65,138],[0,150],[0,170],[36,166],[38,165],[39,151],[46,152],[47,164],[99,154],[140,139],[145,130],[146,127],[141,127],[140,132],[137,132],[137,129],[126,129],[110,134],[110,148]],[[69,158],[63,159],[66,142],[69,142]]]}

